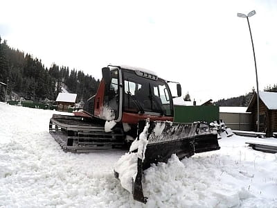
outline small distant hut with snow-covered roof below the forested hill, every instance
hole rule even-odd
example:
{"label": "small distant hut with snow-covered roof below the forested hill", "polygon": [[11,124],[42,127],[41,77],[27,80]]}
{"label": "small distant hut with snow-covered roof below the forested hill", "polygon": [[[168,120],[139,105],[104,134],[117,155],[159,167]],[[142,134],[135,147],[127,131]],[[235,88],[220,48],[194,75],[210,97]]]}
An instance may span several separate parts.
{"label": "small distant hut with snow-covered roof below the forested hill", "polygon": [[67,111],[69,107],[73,107],[77,98],[77,94],[72,93],[62,93],[57,95],[56,103],[57,110]]}

